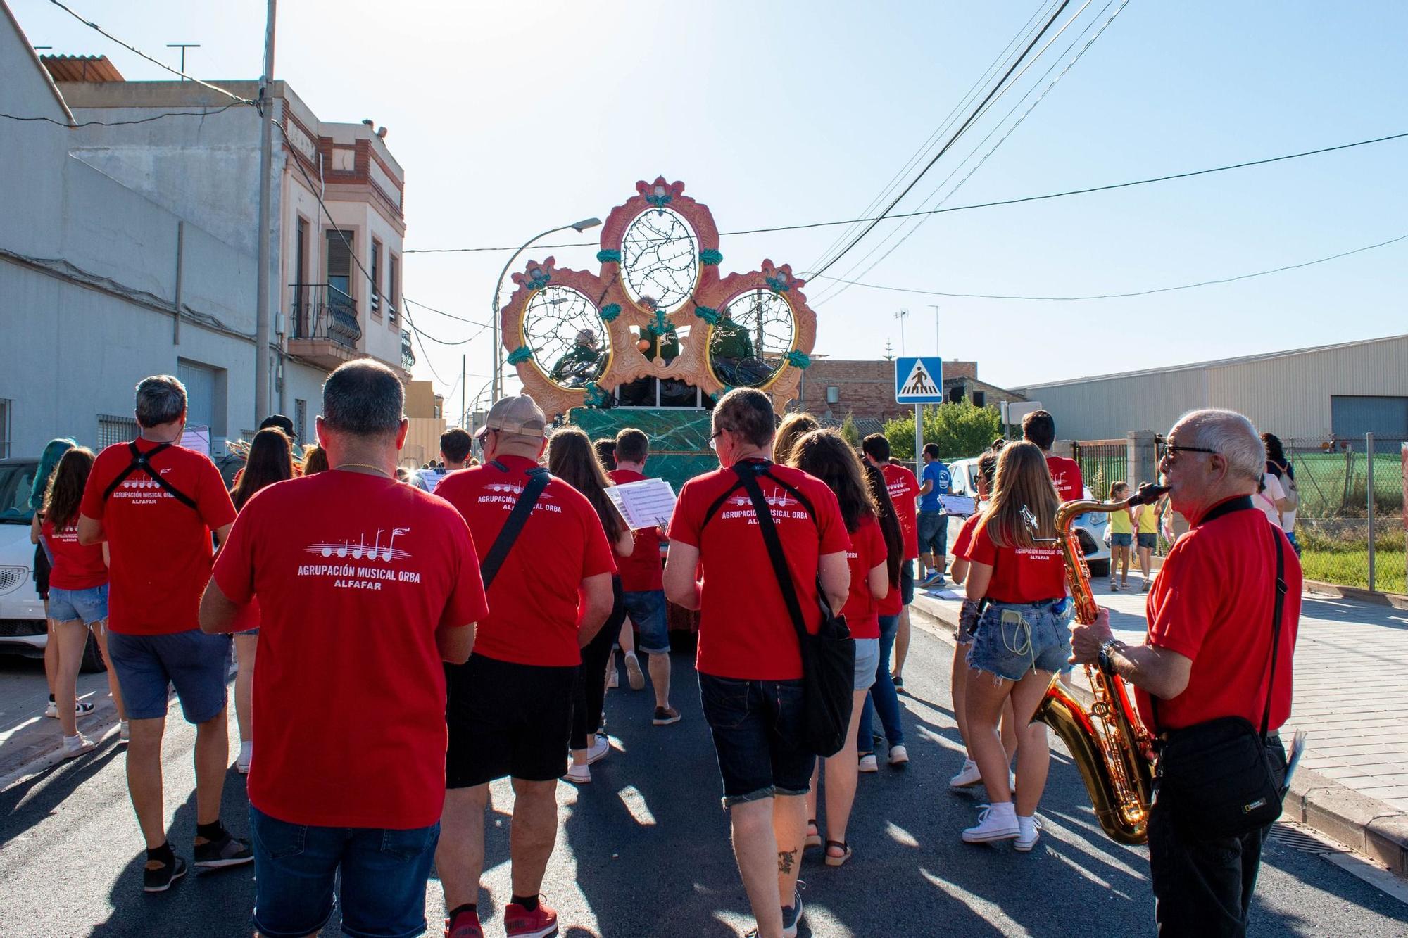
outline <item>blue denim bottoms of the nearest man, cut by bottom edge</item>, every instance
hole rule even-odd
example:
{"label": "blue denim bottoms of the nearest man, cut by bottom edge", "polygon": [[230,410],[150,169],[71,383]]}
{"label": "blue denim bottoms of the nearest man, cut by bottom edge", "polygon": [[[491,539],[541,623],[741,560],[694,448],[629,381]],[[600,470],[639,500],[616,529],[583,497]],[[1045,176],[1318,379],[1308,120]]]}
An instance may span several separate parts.
{"label": "blue denim bottoms of the nearest man, cut by bottom edge", "polygon": [[406,831],[308,827],[249,806],[255,852],[255,928],[269,938],[322,931],[337,904],[341,869],[342,932],[408,938],[425,931],[425,882],[439,824]]}

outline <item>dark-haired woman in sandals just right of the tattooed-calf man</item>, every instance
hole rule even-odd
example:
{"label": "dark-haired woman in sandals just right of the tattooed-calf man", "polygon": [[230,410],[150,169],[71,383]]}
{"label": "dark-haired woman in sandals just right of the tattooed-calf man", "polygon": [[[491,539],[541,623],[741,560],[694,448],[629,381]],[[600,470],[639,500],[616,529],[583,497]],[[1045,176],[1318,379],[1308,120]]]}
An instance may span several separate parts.
{"label": "dark-haired woman in sandals just right of the tattooed-calf man", "polygon": [[[866,692],[876,680],[880,663],[880,604],[890,593],[888,549],[880,521],[876,514],[870,490],[862,482],[860,458],[856,451],[832,430],[814,430],[797,439],[788,456],[788,463],[810,476],[821,479],[836,493],[841,506],[841,520],[850,534],[850,549],[846,562],[850,566],[850,593],[842,614],[850,635],[856,639],[856,670],[852,684],[850,727],[846,744],[826,758],[826,866],[841,866],[850,859],[850,845],[846,842],[846,824],[850,821],[850,807],[856,800],[856,730],[865,707]],[[895,570],[898,572],[898,570]],[[811,773],[811,790],[807,792],[808,845],[819,845],[817,828],[817,782],[821,773],[818,765]]]}

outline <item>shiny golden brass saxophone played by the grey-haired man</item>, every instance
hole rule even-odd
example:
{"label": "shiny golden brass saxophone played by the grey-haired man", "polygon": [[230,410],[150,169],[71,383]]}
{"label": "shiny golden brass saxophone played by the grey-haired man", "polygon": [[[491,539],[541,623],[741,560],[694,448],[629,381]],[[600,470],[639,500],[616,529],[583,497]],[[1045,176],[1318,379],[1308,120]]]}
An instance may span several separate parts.
{"label": "shiny golden brass saxophone played by the grey-haired man", "polygon": [[[1167,489],[1162,486],[1142,484],[1125,501],[1063,501],[1056,510],[1056,539],[1066,558],[1077,623],[1094,623],[1100,607],[1090,590],[1090,568],[1071,523],[1087,511],[1112,513],[1149,504],[1164,492]],[[1032,721],[1055,730],[1070,749],[1105,835],[1119,844],[1143,844],[1149,838],[1149,806],[1153,801],[1153,739],[1129,706],[1119,675],[1107,673],[1098,665],[1086,665],[1086,677],[1094,696],[1090,710],[1056,676]]]}

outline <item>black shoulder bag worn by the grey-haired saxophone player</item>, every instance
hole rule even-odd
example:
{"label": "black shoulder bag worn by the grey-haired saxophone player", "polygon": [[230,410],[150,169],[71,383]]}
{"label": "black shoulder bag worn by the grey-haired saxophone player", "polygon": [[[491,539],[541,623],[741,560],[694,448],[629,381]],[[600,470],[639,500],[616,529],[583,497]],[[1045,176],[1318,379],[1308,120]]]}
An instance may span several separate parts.
{"label": "black shoulder bag worn by the grey-haired saxophone player", "polygon": [[[1218,717],[1164,732],[1157,742],[1156,803],[1170,810],[1188,839],[1240,837],[1281,815],[1281,770],[1266,752],[1276,693],[1276,659],[1281,646],[1281,608],[1286,597],[1286,552],[1281,534],[1267,525],[1276,544],[1276,601],[1271,613],[1271,672],[1267,677],[1262,731],[1245,717]],[[1157,731],[1159,701],[1150,697]]]}

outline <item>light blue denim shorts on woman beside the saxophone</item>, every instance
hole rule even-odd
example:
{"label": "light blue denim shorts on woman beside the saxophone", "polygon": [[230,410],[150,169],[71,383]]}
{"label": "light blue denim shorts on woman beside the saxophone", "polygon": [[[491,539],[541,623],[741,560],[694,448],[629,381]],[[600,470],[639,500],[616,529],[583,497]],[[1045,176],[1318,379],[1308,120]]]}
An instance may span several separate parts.
{"label": "light blue denim shorts on woman beside the saxophone", "polygon": [[1031,670],[1070,669],[1064,597],[1042,603],[988,603],[967,654],[970,668],[1021,680]]}

